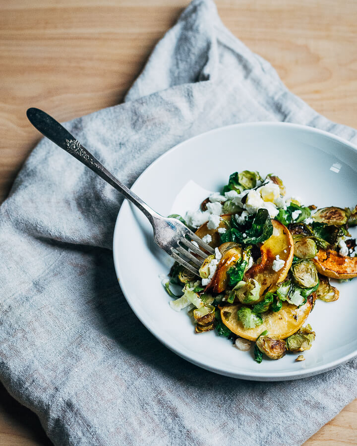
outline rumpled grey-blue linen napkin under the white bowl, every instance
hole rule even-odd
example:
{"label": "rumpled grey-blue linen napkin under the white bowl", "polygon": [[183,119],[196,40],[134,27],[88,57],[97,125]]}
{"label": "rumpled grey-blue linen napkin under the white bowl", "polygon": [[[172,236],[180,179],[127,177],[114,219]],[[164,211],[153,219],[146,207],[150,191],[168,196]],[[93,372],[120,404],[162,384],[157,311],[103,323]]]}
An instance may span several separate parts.
{"label": "rumpled grey-blue linen napkin under the white bowl", "polygon": [[[288,121],[357,143],[290,93],[268,62],[195,0],[124,104],[66,127],[126,184],[198,133]],[[357,360],[308,379],[202,370],[138,321],[112,261],[122,197],[48,140],[0,208],[0,379],[55,445],[299,445],[357,396]]]}

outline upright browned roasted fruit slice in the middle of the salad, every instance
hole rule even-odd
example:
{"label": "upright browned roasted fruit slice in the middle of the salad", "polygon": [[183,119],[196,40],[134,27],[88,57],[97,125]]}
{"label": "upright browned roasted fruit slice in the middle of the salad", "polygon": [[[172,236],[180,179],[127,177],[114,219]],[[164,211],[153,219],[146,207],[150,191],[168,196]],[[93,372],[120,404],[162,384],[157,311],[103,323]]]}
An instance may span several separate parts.
{"label": "upright browned roasted fruit slice in the middle of the salad", "polygon": [[[253,265],[244,275],[244,279],[255,279],[261,285],[260,295],[268,288],[272,290],[278,282],[284,281],[294,257],[294,242],[288,228],[277,220],[272,220],[272,223],[273,234],[260,247],[260,263]],[[277,256],[284,265],[274,271],[273,263]]]}

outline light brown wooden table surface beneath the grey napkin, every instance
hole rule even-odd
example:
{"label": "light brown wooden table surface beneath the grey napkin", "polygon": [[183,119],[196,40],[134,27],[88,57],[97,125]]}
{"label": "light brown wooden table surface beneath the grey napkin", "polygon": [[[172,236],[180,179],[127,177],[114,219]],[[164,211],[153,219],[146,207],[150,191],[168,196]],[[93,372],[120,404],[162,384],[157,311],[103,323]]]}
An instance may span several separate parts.
{"label": "light brown wooden table surface beneath the grey napkin", "polygon": [[[0,201],[38,132],[35,106],[60,121],[118,104],[185,0],[0,0]],[[356,0],[218,0],[223,22],[328,118],[357,127]],[[306,445],[357,445],[357,400]],[[51,445],[0,386],[0,445]]]}

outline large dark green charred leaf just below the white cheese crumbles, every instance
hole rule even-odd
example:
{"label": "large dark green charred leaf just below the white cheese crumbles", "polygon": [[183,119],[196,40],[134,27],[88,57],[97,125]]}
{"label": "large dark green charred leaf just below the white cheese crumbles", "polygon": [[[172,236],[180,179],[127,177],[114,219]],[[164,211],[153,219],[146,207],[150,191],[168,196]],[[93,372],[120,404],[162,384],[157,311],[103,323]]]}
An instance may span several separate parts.
{"label": "large dark green charred leaf just below the white cheese crumbles", "polygon": [[[238,225],[233,218],[232,227],[221,234],[221,243],[236,242],[239,244],[253,245],[267,240],[273,233],[273,223],[266,209],[258,209],[255,217],[245,217],[245,223]],[[245,237],[243,237],[245,234]]]}

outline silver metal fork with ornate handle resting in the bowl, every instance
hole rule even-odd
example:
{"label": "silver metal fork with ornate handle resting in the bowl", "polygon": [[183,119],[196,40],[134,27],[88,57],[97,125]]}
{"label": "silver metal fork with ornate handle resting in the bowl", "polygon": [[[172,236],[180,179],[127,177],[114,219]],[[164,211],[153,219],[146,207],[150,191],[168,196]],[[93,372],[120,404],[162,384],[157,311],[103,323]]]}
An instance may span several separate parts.
{"label": "silver metal fork with ornate handle resting in the bowl", "polygon": [[[154,229],[155,242],[166,253],[173,257],[182,266],[195,275],[203,260],[209,254],[214,254],[214,250],[202,241],[187,226],[173,218],[165,218],[150,208],[141,198],[126,187],[118,178],[107,170],[91,153],[85,149],[79,141],[74,138],[59,122],[42,110],[31,108],[27,110],[27,117],[31,124],[37,128],[44,136],[49,138],[61,149],[68,152],[79,160],[93,172],[97,173],[107,183],[119,190],[125,198],[130,200],[149,219]],[[202,251],[193,242],[196,242]],[[195,255],[194,255],[195,254]],[[191,265],[191,262],[193,265]]]}

